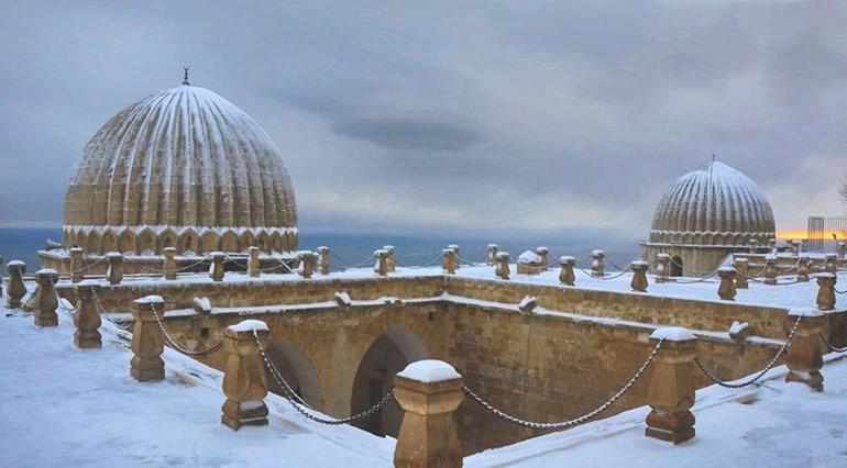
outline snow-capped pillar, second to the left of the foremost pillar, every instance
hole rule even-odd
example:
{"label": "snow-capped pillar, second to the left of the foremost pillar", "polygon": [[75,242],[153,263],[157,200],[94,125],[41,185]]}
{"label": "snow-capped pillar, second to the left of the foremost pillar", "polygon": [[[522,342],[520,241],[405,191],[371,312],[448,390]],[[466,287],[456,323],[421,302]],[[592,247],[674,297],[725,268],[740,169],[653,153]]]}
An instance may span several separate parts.
{"label": "snow-capped pillar, second to the left of the foremost pillar", "polygon": [[165,336],[158,327],[160,317],[164,316],[165,300],[161,296],[147,296],[132,301],[132,361],[130,376],[145,382],[165,378],[165,361],[162,353],[165,350]]}

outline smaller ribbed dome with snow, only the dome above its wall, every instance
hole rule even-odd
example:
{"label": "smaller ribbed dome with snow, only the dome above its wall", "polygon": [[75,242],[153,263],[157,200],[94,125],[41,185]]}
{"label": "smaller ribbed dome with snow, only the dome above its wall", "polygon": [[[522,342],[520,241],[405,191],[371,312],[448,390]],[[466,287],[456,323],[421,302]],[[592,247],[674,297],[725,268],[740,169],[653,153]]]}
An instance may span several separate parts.
{"label": "smaller ribbed dome with snow, only the dome above its wall", "polygon": [[773,213],[749,177],[712,161],[680,177],[662,197],[650,241],[698,245],[744,245],[774,236]]}

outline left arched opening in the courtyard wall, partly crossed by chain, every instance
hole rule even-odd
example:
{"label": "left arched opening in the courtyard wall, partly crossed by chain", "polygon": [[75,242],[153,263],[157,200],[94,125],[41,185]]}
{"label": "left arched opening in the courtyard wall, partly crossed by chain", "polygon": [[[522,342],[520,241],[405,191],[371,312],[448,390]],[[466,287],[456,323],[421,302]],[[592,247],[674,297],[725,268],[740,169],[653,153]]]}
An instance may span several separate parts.
{"label": "left arched opening in the courtyard wall, partly crossed by chain", "polygon": [[[318,379],[318,370],[300,352],[278,339],[272,339],[267,357],[274,363],[285,381],[309,406],[323,410],[323,392]],[[267,369],[265,369],[267,372]],[[276,379],[267,372],[267,387],[272,392],[285,395],[286,392]]]}

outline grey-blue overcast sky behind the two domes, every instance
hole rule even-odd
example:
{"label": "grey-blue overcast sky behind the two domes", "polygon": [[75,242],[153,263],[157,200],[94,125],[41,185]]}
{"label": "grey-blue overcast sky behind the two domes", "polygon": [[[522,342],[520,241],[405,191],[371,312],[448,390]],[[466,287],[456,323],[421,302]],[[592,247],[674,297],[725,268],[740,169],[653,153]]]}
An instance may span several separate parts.
{"label": "grey-blue overcast sky behind the two domes", "polygon": [[301,231],[644,237],[713,153],[778,230],[844,212],[847,2],[237,3],[3,0],[0,226],[61,225],[88,138],[185,64],[279,146]]}

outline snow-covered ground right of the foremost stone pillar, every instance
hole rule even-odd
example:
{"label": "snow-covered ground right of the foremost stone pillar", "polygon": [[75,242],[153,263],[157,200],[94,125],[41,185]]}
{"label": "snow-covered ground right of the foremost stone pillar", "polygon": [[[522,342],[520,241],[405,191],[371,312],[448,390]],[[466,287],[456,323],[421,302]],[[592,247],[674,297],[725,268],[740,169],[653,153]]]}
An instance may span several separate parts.
{"label": "snow-covered ground right of the foremost stone pillar", "polygon": [[581,427],[465,458],[475,467],[845,467],[847,360],[824,366],[824,392],[785,383],[784,366],[759,388],[697,391],[696,436],[683,444],[645,436],[641,406]]}

